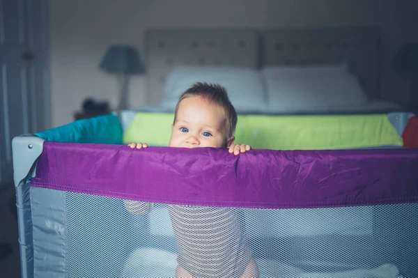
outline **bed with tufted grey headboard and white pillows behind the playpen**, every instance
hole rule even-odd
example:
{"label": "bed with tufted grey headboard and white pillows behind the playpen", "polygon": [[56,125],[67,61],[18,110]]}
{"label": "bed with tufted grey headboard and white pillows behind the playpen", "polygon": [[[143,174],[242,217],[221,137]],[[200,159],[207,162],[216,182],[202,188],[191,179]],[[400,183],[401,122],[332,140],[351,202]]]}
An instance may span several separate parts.
{"label": "bed with tufted grey headboard and white pillows behind the playpen", "polygon": [[[150,30],[148,105],[172,111],[196,81],[226,86],[241,114],[405,111],[380,93],[380,29]],[[152,106],[150,106],[152,105]]]}

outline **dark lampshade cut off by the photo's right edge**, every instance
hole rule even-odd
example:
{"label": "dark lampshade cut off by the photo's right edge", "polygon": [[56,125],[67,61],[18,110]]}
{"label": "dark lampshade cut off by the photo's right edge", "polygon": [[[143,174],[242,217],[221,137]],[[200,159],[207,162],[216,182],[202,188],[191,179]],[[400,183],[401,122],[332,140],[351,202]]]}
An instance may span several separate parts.
{"label": "dark lampshade cut off by the photo's right edge", "polygon": [[395,56],[392,68],[397,72],[418,72],[418,44],[403,45]]}

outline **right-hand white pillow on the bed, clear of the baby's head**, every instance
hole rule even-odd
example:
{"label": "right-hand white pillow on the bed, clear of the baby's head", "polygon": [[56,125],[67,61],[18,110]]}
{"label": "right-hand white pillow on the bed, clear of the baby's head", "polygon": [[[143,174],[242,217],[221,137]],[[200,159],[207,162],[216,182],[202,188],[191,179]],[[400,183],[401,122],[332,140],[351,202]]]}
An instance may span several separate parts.
{"label": "right-hand white pillow on the bed, clear of the baby's head", "polygon": [[284,75],[265,79],[270,113],[350,111],[367,96],[353,75]]}

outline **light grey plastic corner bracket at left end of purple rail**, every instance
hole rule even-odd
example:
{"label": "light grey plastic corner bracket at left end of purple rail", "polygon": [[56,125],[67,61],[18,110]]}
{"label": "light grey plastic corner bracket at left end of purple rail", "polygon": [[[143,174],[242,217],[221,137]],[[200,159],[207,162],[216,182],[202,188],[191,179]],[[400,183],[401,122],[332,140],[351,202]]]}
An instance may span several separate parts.
{"label": "light grey plastic corner bracket at left end of purple rail", "polygon": [[34,177],[36,162],[42,153],[45,140],[32,134],[23,134],[13,138],[13,180],[15,187],[28,176]]}

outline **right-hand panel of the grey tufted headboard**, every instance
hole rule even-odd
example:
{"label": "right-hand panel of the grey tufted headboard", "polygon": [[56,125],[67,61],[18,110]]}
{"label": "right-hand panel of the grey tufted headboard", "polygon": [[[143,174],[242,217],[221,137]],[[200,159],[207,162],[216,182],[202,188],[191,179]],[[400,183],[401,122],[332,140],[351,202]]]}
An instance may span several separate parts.
{"label": "right-hand panel of the grey tufted headboard", "polygon": [[378,98],[380,29],[274,29],[262,37],[263,65],[346,62],[369,98]]}

